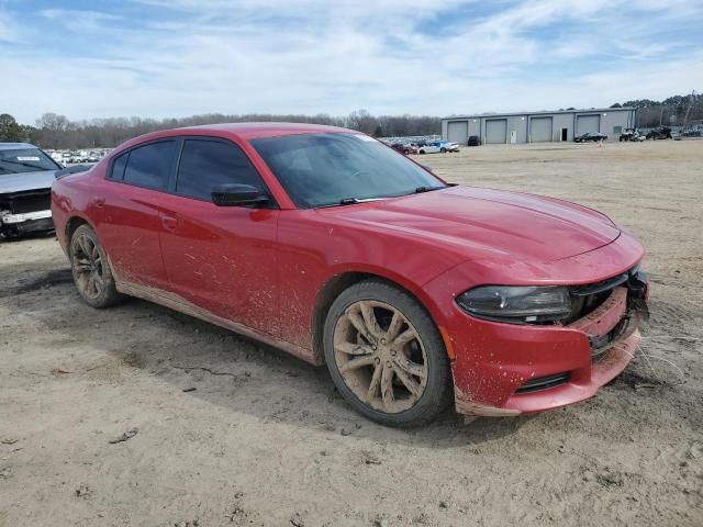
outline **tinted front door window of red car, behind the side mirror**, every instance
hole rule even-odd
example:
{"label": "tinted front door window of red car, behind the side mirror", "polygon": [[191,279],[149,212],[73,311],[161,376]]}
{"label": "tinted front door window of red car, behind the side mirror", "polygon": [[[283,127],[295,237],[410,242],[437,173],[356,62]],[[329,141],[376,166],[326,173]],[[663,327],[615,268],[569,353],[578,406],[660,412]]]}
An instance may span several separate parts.
{"label": "tinted front door window of red car, behind the side mirror", "polygon": [[217,141],[186,139],[176,192],[210,201],[213,187],[225,183],[250,184],[265,190],[259,173],[238,146]]}

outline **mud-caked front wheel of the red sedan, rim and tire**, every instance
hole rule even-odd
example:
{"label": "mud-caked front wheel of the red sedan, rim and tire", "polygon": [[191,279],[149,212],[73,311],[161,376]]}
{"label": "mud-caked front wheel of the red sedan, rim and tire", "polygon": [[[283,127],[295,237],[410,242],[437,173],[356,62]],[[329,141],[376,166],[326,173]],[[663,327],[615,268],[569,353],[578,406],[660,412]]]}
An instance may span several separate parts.
{"label": "mud-caked front wheel of the red sedan, rim and tire", "polygon": [[451,400],[447,352],[427,312],[406,292],[370,280],[332,304],[327,368],[359,413],[383,425],[419,426]]}

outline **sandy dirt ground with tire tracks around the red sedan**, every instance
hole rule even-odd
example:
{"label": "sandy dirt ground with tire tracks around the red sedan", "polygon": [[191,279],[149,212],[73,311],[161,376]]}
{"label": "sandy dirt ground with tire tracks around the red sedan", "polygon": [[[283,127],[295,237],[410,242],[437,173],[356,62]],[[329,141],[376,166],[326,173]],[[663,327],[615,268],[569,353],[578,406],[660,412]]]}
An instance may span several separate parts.
{"label": "sandy dirt ground with tire tracks around the red sedan", "polygon": [[325,369],[146,302],[91,310],[51,236],[0,243],[0,525],[702,526],[703,141],[419,159],[643,239],[652,313],[623,375],[540,415],[388,429]]}

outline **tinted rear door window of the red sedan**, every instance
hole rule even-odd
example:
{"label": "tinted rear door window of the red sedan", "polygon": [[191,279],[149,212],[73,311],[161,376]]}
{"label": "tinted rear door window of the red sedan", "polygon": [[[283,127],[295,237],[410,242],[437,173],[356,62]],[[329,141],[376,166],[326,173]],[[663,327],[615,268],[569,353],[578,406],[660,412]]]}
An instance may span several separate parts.
{"label": "tinted rear door window of the red sedan", "polygon": [[147,189],[166,190],[175,153],[175,141],[161,141],[130,150],[124,180]]}

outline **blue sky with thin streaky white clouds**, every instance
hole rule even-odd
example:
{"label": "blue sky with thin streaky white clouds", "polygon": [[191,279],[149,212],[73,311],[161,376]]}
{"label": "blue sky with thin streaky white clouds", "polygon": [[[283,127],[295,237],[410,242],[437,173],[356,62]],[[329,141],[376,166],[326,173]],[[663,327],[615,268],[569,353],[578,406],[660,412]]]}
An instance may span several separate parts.
{"label": "blue sky with thin streaky white clouds", "polygon": [[703,0],[0,0],[0,113],[453,115],[703,89]]}

